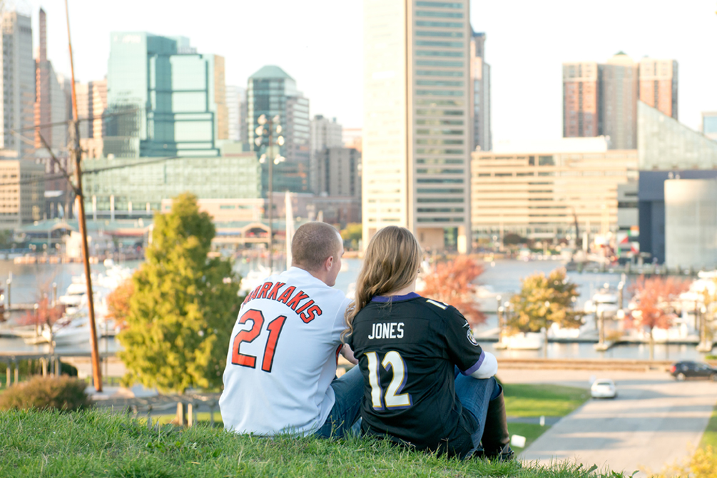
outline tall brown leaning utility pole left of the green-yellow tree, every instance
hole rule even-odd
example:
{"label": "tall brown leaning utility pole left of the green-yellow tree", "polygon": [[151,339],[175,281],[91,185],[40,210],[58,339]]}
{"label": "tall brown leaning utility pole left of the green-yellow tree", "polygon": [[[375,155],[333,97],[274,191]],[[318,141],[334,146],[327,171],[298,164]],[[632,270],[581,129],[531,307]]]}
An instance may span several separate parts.
{"label": "tall brown leaning utility pole left of the green-yellow tree", "polygon": [[82,193],[82,173],[80,172],[80,123],[77,115],[77,92],[75,91],[75,66],[72,62],[72,39],[70,38],[70,8],[65,0],[65,16],[67,16],[67,44],[70,48],[70,73],[72,77],[72,123],[70,126],[70,156],[75,160],[75,183],[77,188],[77,224],[82,236],[82,262],[85,264],[87,279],[87,312],[90,316],[90,344],[92,345],[92,378],[95,390],[102,391],[102,371],[100,370],[100,353],[97,344],[97,327],[95,326],[95,303],[92,297],[92,276],[90,273],[90,256],[87,247],[87,224],[85,223],[85,196]]}

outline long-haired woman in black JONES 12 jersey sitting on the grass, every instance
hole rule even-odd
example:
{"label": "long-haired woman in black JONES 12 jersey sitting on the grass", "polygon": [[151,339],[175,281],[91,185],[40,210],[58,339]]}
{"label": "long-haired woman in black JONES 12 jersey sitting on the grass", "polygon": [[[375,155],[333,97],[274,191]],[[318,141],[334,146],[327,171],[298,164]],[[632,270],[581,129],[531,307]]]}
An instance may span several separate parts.
{"label": "long-haired woman in black JONES 12 jersey sitting on the grass", "polygon": [[461,458],[483,439],[485,457],[511,459],[498,363],[455,307],[416,293],[421,259],[397,226],[366,249],[344,334],[364,375],[362,430]]}

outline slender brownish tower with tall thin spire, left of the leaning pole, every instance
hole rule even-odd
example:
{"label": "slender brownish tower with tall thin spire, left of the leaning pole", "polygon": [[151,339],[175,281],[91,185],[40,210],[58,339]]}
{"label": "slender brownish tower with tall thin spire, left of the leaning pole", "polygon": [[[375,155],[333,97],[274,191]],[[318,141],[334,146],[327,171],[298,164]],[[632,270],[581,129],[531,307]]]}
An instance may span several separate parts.
{"label": "slender brownish tower with tall thin spire, left of the leaning pole", "polygon": [[[39,11],[39,38],[39,55],[35,59],[35,126],[67,120],[67,97],[54,73],[52,62],[47,59],[47,18],[43,9]],[[35,148],[44,148],[40,135],[52,148],[67,148],[67,128],[67,124],[59,124],[36,129]]]}

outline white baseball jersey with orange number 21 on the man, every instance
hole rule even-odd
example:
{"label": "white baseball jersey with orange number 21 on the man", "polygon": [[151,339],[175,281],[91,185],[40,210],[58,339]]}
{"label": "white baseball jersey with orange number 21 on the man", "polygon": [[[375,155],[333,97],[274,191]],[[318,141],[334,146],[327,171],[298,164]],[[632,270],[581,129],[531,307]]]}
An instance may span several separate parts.
{"label": "white baseball jersey with orange number 21 on the man", "polygon": [[267,277],[239,310],[219,398],[224,428],[310,434],[334,403],[331,381],[350,300],[298,267]]}

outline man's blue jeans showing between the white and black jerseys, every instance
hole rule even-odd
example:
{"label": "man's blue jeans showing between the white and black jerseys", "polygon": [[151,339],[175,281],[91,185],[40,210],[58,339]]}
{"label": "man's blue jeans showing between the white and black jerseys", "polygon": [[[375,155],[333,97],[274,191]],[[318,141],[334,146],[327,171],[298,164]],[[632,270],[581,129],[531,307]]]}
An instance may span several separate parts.
{"label": "man's blue jeans showing between the white and black jerseys", "polygon": [[359,366],[331,382],[336,401],[323,425],[315,431],[315,436],[322,438],[342,438],[361,414],[361,401],[364,400],[364,376]]}

